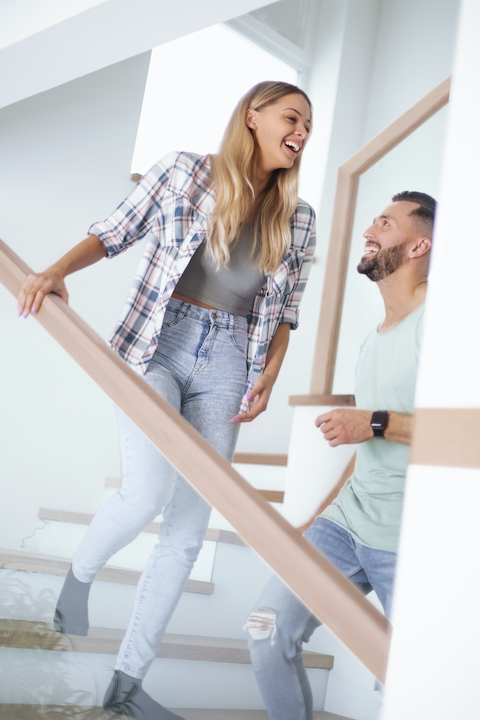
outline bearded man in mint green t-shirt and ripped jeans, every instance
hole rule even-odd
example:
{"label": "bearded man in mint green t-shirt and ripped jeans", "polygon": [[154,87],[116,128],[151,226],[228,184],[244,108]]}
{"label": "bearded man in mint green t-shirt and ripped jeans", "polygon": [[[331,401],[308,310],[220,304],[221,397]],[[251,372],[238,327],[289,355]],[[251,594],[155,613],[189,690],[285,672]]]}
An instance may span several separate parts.
{"label": "bearded man in mint green t-shirt and ripped jeans", "polygon": [[[316,419],[335,447],[358,443],[353,475],[305,537],[389,615],[435,200],[402,192],[365,231],[359,273],[377,283],[385,319],[367,335],[356,368],[357,407]],[[312,720],[302,645],[320,623],[277,578],[247,621],[255,677],[270,720]]]}

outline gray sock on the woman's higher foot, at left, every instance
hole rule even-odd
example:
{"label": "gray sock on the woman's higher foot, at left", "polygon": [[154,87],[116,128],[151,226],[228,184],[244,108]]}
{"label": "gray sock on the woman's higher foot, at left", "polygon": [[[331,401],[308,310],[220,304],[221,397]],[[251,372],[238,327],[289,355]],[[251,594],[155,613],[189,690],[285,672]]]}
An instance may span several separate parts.
{"label": "gray sock on the woman's higher foot, at left", "polygon": [[67,635],[88,633],[88,594],[92,583],[82,583],[68,571],[58,598],[53,626],[57,632]]}

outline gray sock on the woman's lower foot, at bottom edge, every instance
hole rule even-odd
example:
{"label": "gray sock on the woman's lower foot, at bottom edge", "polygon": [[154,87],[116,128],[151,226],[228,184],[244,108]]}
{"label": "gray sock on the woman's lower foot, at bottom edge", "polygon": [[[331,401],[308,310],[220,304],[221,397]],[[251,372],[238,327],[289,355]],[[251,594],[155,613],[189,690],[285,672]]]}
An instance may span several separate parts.
{"label": "gray sock on the woman's lower foot, at bottom edge", "polygon": [[117,715],[135,720],[184,720],[155,702],[142,689],[142,681],[115,670],[112,681],[105,693],[103,707]]}

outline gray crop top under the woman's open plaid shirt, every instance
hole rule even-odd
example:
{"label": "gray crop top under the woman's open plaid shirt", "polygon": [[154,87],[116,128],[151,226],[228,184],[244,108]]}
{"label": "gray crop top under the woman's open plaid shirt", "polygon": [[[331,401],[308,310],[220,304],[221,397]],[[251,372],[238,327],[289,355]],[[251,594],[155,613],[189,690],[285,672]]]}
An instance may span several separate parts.
{"label": "gray crop top under the woman's open plaid shirt", "polygon": [[206,241],[194,253],[175,292],[211,305],[217,310],[246,316],[255,295],[265,283],[258,267],[258,253],[250,255],[250,225],[245,224],[230,253],[230,260],[219,270],[206,252]]}

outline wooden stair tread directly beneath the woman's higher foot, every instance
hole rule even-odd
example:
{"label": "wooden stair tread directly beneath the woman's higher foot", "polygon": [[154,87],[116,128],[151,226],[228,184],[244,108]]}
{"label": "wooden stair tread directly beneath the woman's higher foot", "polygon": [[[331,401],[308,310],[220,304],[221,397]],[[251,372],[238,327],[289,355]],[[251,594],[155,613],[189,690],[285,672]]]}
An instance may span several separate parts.
{"label": "wooden stair tread directly beneath the woman's higher foot", "polygon": [[[0,646],[40,648],[76,653],[117,655],[125,635],[116,628],[91,627],[87,637],[55,633],[52,626],[29,620],[0,619]],[[209,662],[250,664],[246,640],[166,634],[156,657],[173,660],[206,660]],[[330,670],[333,657],[323,653],[304,652],[307,668]]]}

